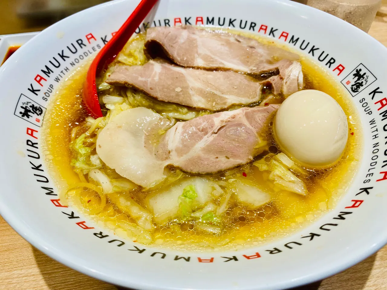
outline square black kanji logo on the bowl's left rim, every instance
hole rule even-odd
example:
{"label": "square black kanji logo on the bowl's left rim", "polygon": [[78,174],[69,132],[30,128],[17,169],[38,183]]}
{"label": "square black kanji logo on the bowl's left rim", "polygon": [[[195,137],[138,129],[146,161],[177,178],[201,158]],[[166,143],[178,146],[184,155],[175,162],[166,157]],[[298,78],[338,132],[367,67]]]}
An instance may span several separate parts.
{"label": "square black kanji logo on the bowl's left rim", "polygon": [[45,113],[45,107],[39,105],[29,97],[21,94],[19,101],[17,102],[14,115],[28,121],[29,123],[41,127]]}

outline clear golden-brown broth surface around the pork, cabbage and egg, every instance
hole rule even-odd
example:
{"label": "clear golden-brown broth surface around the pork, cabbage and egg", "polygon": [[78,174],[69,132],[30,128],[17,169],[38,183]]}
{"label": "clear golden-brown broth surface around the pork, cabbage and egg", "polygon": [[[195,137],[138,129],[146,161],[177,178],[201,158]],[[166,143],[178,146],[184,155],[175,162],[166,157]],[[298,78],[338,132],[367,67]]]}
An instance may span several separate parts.
{"label": "clear golden-brown broth surface around the pork, cabbage and egg", "polygon": [[[242,34],[240,32],[235,32]],[[266,38],[257,35],[243,35],[255,38],[266,44],[277,45]],[[279,45],[277,45],[279,46]],[[286,46],[280,46],[287,49]],[[292,51],[296,52],[296,51]],[[297,53],[297,52],[296,52]],[[254,184],[255,186],[271,191],[272,201],[258,210],[248,210],[231,200],[224,218],[224,232],[221,235],[195,230],[195,224],[190,222],[171,222],[156,227],[151,246],[172,247],[190,251],[219,251],[236,250],[244,247],[259,245],[271,241],[298,230],[308,223],[316,220],[323,213],[334,208],[341,194],[346,191],[356,172],[358,160],[361,154],[361,130],[360,121],[356,114],[348,94],[342,86],[332,78],[319,65],[313,63],[307,57],[300,55],[303,67],[305,89],[321,90],[334,97],[341,105],[348,119],[349,135],[348,143],[342,159],[336,165],[312,172],[305,180],[309,194],[301,196],[288,191],[273,191],[265,188],[265,173],[257,167],[245,165],[233,172],[235,178]],[[72,153],[69,149],[71,131],[81,124],[86,118],[82,107],[81,89],[88,65],[78,68],[51,99],[43,123],[44,152],[46,162],[51,169],[52,176],[57,181],[57,186],[65,192],[69,185],[79,183],[80,179],[70,165]],[[85,128],[86,131],[86,128]],[[79,135],[77,135],[79,136]],[[270,135],[269,135],[270,137]],[[270,141],[271,140],[271,141]],[[275,145],[272,138],[269,138]],[[245,174],[244,174],[245,173]],[[246,176],[245,176],[246,175]],[[214,176],[221,178],[221,175]],[[144,204],[146,194],[137,190],[128,193],[128,198],[134,198],[139,204]],[[87,194],[84,196],[86,200]],[[77,204],[72,196],[62,196],[62,200]],[[82,208],[80,212],[87,214]],[[122,227],[122,223],[133,220],[120,212],[115,205],[108,203],[103,212],[90,215],[102,227],[113,230],[119,236],[132,239],[132,236]]]}

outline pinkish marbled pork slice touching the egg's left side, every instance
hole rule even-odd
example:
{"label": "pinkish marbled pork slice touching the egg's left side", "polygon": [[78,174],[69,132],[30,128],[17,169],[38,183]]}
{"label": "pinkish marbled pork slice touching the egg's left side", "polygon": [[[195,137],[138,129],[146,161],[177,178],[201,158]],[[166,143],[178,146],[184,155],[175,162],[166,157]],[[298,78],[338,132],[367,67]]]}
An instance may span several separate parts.
{"label": "pinkish marbled pork slice touching the egg's left side", "polygon": [[195,174],[246,164],[264,151],[259,145],[278,108],[274,104],[241,108],[178,122],[161,139],[157,157]]}

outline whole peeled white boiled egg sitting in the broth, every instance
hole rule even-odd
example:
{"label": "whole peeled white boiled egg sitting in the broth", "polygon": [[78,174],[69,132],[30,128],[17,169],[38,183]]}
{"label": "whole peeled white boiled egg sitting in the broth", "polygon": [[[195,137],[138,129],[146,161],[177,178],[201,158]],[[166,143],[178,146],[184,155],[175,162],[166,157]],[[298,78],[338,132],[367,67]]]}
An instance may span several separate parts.
{"label": "whole peeled white boiled egg sitting in the broth", "polygon": [[341,157],[348,140],[348,123],[331,96],[319,90],[301,90],[279,107],[274,133],[287,154],[305,165],[322,167]]}

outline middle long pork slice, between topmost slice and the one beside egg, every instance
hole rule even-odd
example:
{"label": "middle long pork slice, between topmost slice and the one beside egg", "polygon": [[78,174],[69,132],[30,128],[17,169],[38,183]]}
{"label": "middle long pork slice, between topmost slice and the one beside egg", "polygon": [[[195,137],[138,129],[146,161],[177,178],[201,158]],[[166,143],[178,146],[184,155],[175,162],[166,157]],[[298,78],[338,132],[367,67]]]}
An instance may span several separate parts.
{"label": "middle long pork slice, between topmost slice and the one beside egg", "polygon": [[258,102],[262,91],[259,82],[241,73],[182,68],[162,59],[117,66],[106,82],[139,89],[160,101],[210,111]]}

